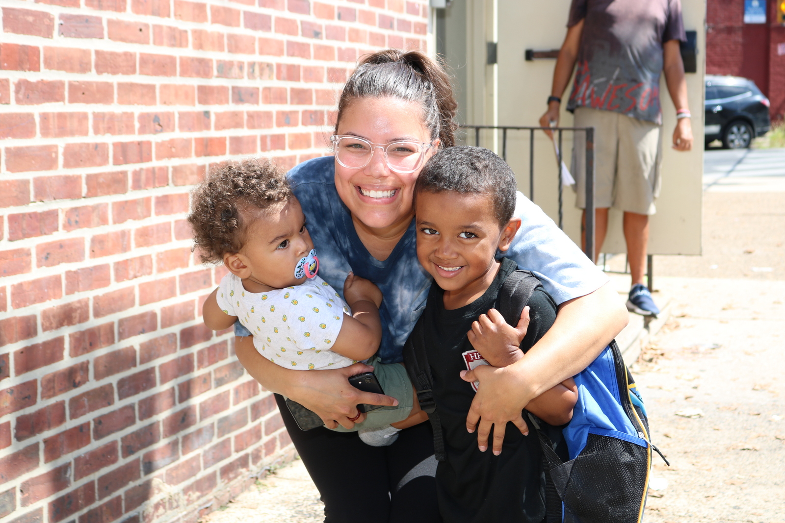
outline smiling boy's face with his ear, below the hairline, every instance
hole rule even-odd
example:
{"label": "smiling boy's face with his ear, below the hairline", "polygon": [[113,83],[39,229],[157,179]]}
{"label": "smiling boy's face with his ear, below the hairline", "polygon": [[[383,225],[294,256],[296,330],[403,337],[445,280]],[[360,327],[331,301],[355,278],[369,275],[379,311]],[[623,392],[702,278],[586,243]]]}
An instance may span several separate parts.
{"label": "smiling boy's face with his ear, below the hairline", "polygon": [[417,258],[455,309],[483,295],[496,276],[497,249],[506,251],[520,220],[502,227],[488,194],[421,191],[415,200]]}

